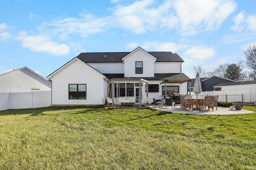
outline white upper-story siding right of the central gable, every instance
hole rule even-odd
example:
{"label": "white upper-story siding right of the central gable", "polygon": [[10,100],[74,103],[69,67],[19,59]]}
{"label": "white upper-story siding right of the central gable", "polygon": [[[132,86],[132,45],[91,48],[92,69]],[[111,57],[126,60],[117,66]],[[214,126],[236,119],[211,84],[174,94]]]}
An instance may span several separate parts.
{"label": "white upper-story siding right of the central gable", "polygon": [[155,73],[180,73],[180,62],[156,62],[154,67]]}

